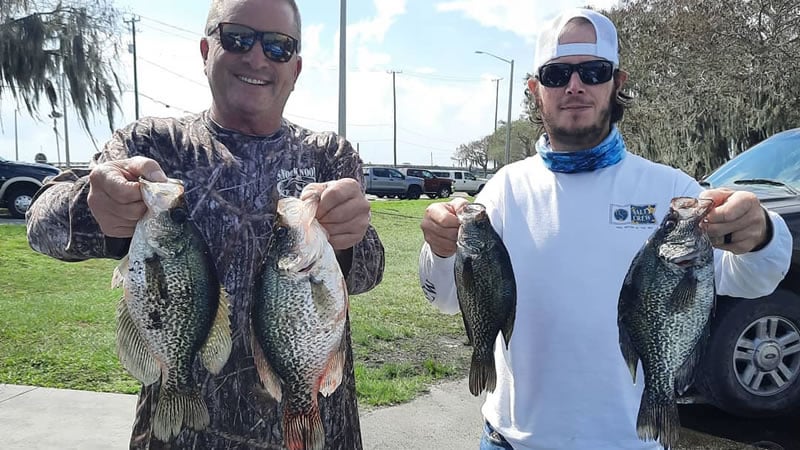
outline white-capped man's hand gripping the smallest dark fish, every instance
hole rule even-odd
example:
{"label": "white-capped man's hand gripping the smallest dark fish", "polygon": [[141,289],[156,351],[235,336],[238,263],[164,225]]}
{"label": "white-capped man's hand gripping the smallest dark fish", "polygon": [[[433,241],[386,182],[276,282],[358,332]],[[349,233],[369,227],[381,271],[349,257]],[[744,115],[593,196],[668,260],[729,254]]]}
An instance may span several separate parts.
{"label": "white-capped man's hand gripping the smallest dark fish", "polygon": [[447,203],[432,203],[425,209],[420,228],[425,242],[437,256],[447,258],[455,254],[458,227],[461,225],[456,214],[467,203],[466,199],[457,197]]}

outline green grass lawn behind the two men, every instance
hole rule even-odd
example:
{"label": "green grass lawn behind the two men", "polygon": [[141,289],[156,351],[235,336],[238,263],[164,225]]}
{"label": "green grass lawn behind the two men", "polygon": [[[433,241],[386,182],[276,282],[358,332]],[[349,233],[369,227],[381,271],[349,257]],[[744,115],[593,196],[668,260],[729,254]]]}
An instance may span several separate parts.
{"label": "green grass lawn behind the two men", "polygon": [[[430,306],[417,277],[419,223],[430,200],[376,201],[386,250],[383,282],[351,297],[359,401],[408,401],[437,380],[464,376],[459,316]],[[135,393],[114,354],[116,261],[65,263],[33,252],[23,225],[0,225],[0,383]]]}

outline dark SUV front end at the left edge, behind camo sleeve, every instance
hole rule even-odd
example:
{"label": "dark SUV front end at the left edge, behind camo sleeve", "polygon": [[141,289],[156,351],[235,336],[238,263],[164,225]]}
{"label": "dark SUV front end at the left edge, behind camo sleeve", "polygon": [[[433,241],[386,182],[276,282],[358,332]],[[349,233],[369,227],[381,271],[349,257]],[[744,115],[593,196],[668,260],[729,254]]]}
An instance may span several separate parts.
{"label": "dark SUV front end at the left edge, behind camo sleeve", "polygon": [[24,218],[33,194],[45,179],[60,172],[47,164],[9,161],[0,157],[0,208],[8,208],[12,217]]}

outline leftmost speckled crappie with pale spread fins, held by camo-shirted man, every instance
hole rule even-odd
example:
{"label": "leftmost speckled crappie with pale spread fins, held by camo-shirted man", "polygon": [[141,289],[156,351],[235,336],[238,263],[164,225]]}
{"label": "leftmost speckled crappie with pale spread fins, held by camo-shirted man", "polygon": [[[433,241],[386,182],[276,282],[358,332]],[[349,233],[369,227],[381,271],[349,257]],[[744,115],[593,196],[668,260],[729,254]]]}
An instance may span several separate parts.
{"label": "leftmost speckled crappie with pale spread fins, held by camo-shirted man", "polygon": [[117,355],[148,386],[160,381],[153,434],[169,442],[182,427],[204,429],[208,407],[192,376],[199,357],[217,374],[231,352],[228,302],[189,220],[183,184],[140,180],[147,212],[114,273],[124,287],[117,307]]}

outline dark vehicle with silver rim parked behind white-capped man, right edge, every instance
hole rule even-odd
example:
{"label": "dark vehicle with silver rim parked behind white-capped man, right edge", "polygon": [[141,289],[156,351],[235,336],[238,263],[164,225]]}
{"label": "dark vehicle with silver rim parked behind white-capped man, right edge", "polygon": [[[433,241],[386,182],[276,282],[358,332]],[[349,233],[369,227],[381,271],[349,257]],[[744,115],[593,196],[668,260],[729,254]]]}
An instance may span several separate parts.
{"label": "dark vehicle with silver rim parked behind white-capped man, right edge", "polygon": [[784,131],[701,181],[755,193],[792,233],[788,274],[760,299],[720,297],[695,387],[703,400],[739,416],[800,408],[800,128]]}

